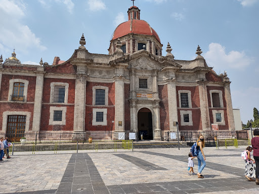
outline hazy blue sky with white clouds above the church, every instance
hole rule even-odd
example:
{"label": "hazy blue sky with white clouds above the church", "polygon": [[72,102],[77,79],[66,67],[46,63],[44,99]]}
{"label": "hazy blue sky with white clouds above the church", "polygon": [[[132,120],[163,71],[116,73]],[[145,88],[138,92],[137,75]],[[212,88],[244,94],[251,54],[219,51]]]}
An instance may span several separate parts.
{"label": "hazy blue sky with white clouds above the church", "polygon": [[[259,109],[259,0],[136,0],[140,18],[167,42],[175,59],[193,60],[197,46],[218,74],[227,71],[233,108],[244,124]],[[108,54],[131,0],[0,0],[0,55],[23,64],[68,60],[84,33],[90,53]]]}

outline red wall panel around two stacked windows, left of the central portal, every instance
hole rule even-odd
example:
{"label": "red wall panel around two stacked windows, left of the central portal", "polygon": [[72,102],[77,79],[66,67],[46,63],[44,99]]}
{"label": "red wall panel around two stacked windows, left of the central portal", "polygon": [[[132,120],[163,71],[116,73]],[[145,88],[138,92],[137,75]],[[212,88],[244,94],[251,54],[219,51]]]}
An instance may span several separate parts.
{"label": "red wall panel around two stacked windows, left of the central portal", "polygon": [[[93,105],[93,87],[108,87],[108,106]],[[87,82],[87,99],[85,107],[85,131],[111,131],[114,130],[115,117],[115,83],[94,83]],[[92,126],[93,108],[107,108],[107,126]]]}

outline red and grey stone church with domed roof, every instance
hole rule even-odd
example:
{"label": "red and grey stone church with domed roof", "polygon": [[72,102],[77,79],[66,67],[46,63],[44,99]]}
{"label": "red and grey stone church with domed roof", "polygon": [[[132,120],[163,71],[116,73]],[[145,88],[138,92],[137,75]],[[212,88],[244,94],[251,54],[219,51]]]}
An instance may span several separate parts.
{"label": "red and grey stone church with domed roof", "polygon": [[[109,54],[89,53],[82,34],[66,61],[21,64],[0,58],[0,134],[138,132],[163,140],[167,132],[235,130],[230,81],[208,67],[201,48],[194,60],[166,56],[156,31],[128,9]],[[195,52],[195,50],[194,50]],[[70,57],[70,58],[69,58]],[[176,123],[175,123],[176,124]],[[17,137],[17,139],[14,139]]]}

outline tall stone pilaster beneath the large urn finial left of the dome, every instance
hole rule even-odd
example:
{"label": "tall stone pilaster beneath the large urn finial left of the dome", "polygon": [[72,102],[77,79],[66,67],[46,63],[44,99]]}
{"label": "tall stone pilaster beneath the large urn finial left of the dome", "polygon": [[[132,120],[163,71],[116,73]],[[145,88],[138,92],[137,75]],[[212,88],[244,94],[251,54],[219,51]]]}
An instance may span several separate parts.
{"label": "tall stone pilaster beneath the large urn finial left of the dome", "polygon": [[87,79],[85,67],[77,65],[75,80],[74,131],[84,131]]}

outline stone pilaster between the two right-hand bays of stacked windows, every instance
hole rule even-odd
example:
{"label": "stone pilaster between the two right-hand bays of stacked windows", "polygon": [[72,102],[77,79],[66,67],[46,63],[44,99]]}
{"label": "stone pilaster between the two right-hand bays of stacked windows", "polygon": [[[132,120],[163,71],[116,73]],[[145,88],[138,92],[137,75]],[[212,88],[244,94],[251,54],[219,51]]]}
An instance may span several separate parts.
{"label": "stone pilaster between the two right-hand bays of stacked windows", "polygon": [[199,97],[200,97],[200,112],[201,112],[201,124],[203,131],[211,131],[209,111],[208,111],[208,95],[206,82],[199,81]]}

